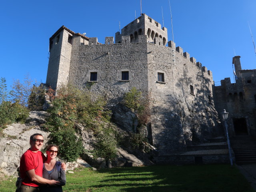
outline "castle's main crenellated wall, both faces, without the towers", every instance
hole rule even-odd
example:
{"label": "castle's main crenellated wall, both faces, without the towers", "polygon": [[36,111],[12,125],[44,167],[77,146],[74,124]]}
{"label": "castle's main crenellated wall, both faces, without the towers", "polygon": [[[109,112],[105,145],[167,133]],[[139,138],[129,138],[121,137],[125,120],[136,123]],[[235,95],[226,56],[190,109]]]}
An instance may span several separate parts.
{"label": "castle's main crenellated wall, both faces, without the towers", "polygon": [[[193,142],[220,134],[212,74],[206,67],[180,47],[173,64],[172,48],[163,46],[160,38],[156,38],[160,44],[147,43],[146,36],[139,36],[137,43],[130,43],[129,36],[122,36],[122,44],[109,43],[110,39],[97,44],[97,38],[90,38],[89,45],[80,45],[80,36],[73,36],[70,83],[89,87],[104,96],[110,107],[132,87],[148,92],[152,97],[148,134],[160,154],[181,152]],[[121,80],[122,71],[129,72],[129,80]],[[97,81],[90,81],[91,72],[97,72]],[[164,82],[158,81],[158,72],[164,74]]]}

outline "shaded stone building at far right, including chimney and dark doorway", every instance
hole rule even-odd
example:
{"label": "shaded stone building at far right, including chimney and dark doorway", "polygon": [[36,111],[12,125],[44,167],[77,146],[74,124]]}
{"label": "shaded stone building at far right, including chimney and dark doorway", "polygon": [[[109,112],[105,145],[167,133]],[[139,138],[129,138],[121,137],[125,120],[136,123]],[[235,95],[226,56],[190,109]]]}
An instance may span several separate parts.
{"label": "shaded stone building at far right, including chimney and dark doorway", "polygon": [[228,132],[231,136],[256,136],[256,69],[242,70],[240,56],[235,56],[236,80],[221,80],[220,86],[214,87],[215,108],[219,112],[225,108],[230,113]]}

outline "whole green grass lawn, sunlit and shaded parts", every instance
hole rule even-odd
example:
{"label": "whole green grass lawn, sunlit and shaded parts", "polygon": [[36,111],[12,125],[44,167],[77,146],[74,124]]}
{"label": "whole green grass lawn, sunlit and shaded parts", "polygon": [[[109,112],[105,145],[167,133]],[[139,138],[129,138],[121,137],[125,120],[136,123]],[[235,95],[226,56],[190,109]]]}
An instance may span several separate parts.
{"label": "whole green grass lawn, sunlit and shaded parts", "polygon": [[[254,192],[234,166],[146,166],[67,173],[64,192]],[[12,180],[12,181],[10,181]],[[0,192],[14,192],[13,178],[0,181]]]}

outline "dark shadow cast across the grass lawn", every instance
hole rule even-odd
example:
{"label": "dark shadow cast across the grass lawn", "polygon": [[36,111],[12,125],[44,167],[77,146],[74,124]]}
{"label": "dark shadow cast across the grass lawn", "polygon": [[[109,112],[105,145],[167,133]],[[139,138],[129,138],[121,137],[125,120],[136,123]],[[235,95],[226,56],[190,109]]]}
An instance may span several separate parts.
{"label": "dark shadow cast across the grass lawn", "polygon": [[122,192],[253,192],[250,184],[229,165],[150,166],[97,170],[107,175],[96,191]]}

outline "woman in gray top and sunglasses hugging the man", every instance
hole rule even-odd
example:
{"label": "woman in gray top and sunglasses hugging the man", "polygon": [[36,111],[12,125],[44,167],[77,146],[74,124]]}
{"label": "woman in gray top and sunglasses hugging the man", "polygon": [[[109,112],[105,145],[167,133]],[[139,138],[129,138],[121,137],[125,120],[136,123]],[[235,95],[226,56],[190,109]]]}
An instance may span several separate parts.
{"label": "woman in gray top and sunglasses hugging the man", "polygon": [[47,160],[44,162],[43,178],[60,181],[58,186],[44,185],[40,187],[40,192],[62,192],[62,186],[66,184],[65,171],[60,168],[61,162],[56,161],[58,146],[55,144],[48,145],[46,148]]}

